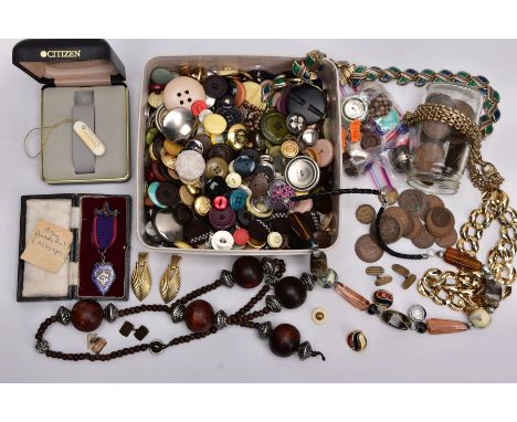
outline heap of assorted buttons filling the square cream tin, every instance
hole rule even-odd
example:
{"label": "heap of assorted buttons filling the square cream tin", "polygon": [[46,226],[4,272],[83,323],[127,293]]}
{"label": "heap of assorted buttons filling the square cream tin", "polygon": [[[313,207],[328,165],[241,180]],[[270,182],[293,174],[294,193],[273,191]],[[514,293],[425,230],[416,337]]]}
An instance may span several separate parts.
{"label": "heap of assorted buttons filling the square cream tin", "polygon": [[316,201],[291,200],[331,188],[321,81],[300,83],[287,70],[186,68],[157,67],[148,84],[146,240],[215,251],[309,247],[291,226],[295,211],[316,217],[310,236],[329,246],[334,220],[318,217]]}

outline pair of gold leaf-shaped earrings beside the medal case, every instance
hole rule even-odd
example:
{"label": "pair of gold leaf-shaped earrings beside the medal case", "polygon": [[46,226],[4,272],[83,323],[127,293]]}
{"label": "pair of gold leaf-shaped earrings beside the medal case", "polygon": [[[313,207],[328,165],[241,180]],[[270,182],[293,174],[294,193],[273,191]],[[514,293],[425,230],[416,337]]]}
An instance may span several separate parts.
{"label": "pair of gold leaf-shaped earrings beside the medal case", "polygon": [[[138,300],[144,300],[150,292],[152,279],[147,259],[149,253],[140,252],[135,270],[131,275],[133,293]],[[171,302],[180,288],[179,262],[181,256],[171,255],[170,264],[167,265],[160,278],[160,296],[166,304]]]}

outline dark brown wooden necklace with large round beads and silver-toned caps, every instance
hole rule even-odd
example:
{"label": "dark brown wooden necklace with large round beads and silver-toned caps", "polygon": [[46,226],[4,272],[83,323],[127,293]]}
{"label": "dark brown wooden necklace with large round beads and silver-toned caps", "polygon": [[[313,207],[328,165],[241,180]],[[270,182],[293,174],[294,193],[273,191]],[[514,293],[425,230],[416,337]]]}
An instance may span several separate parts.
{"label": "dark brown wooden necklace with large round beads and silver-toned caps", "polygon": [[[270,313],[278,313],[282,307],[289,309],[299,307],[307,297],[307,291],[314,287],[314,277],[308,273],[298,277],[283,277],[285,263],[283,260],[262,259],[262,262],[252,256],[238,259],[232,271],[223,270],[219,279],[177,299],[170,306],[167,305],[140,305],[126,309],[117,309],[115,305],[108,304],[104,309],[101,304],[92,299],[78,300],[72,310],[61,306],[56,315],[46,318],[35,334],[35,349],[49,358],[62,360],[89,360],[107,361],[149,350],[151,354],[160,354],[165,349],[179,346],[192,340],[199,340],[223,329],[235,325],[244,328],[256,329],[260,337],[268,339],[270,349],[279,357],[289,357],[297,352],[300,360],[310,357],[325,357],[319,351],[314,351],[308,341],[300,341],[300,334],[291,324],[279,324],[275,328],[271,321],[257,323],[256,318],[264,317]],[[199,299],[200,296],[214,291],[221,286],[232,287],[234,284],[244,288],[253,288],[264,282],[264,286],[236,313],[228,316],[224,310],[213,312],[212,306]],[[267,295],[274,287],[275,295]],[[253,307],[265,297],[265,306],[260,310],[252,312]],[[49,342],[43,338],[46,329],[54,323],[72,325],[80,331],[89,333],[97,329],[103,319],[114,323],[118,317],[124,317],[144,312],[161,312],[170,315],[172,323],[184,320],[192,334],[178,336],[168,342],[154,340],[109,354],[64,354],[50,349]]]}

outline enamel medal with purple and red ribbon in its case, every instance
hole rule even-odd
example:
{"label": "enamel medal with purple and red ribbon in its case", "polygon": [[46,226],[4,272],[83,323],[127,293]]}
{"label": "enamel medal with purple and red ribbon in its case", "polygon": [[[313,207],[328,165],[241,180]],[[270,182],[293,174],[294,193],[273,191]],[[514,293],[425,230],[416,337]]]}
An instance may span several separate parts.
{"label": "enamel medal with purple and red ribbon in its case", "polygon": [[102,209],[95,209],[92,228],[92,243],[101,254],[101,261],[94,264],[92,270],[92,282],[104,296],[115,282],[116,274],[112,263],[106,261],[106,251],[117,239],[118,211],[110,210],[109,203],[105,202]]}

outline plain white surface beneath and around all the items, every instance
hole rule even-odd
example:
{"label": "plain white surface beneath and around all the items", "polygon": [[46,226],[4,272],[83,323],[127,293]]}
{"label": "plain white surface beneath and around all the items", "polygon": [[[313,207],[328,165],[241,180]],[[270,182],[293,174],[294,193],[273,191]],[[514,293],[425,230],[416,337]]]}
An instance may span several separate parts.
{"label": "plain white surface beneath and around all the items", "polygon": [[[180,54],[263,54],[303,56],[307,51],[319,49],[336,60],[348,60],[357,64],[416,70],[461,70],[487,76],[502,94],[502,120],[495,133],[484,145],[484,155],[493,160],[506,176],[505,190],[517,198],[514,177],[515,152],[513,115],[517,112],[515,72],[517,57],[515,41],[183,41],[146,40],[110,41],[126,65],[127,84],[131,103],[131,149],[136,151],[136,104],[139,98],[141,70],[152,56]],[[25,74],[10,65],[14,41],[0,42],[0,92],[3,107],[0,113],[0,233],[2,253],[2,288],[0,292],[0,381],[75,381],[75,382],[450,382],[450,381],[516,381],[511,359],[517,346],[517,318],[514,297],[510,297],[494,316],[493,325],[484,331],[473,330],[460,335],[429,336],[414,331],[404,333],[383,325],[378,318],[360,313],[345,303],[331,291],[317,288],[309,293],[306,304],[295,310],[283,310],[270,319],[287,321],[298,327],[304,339],[327,357],[326,362],[312,359],[299,362],[296,357],[281,359],[272,355],[266,342],[256,334],[243,328],[231,327],[215,336],[168,349],[161,356],[148,352],[134,355],[107,363],[64,362],[51,360],[34,351],[34,333],[39,324],[53,315],[60,305],[71,307],[73,303],[17,303],[17,266],[19,239],[20,196],[53,192],[126,193],[135,198],[135,177],[124,184],[63,186],[50,187],[39,178],[39,161],[25,157],[22,139],[24,134],[38,126],[40,114],[40,86]],[[389,85],[403,109],[414,108],[422,91],[407,86]],[[133,162],[136,161],[133,156]],[[134,166],[133,173],[136,175]],[[368,179],[345,179],[347,187],[370,187]],[[461,192],[444,198],[456,215],[456,229],[471,209],[479,203],[478,192],[464,178]],[[369,297],[376,289],[371,277],[365,275],[366,264],[354,253],[356,239],[366,232],[354,212],[363,201],[377,205],[374,200],[363,197],[341,198],[341,241],[328,253],[329,264],[339,273],[340,281]],[[135,222],[135,219],[134,219]],[[135,230],[134,230],[135,232]],[[487,247],[494,245],[495,230],[482,241],[479,256],[485,257]],[[400,249],[411,251],[401,242]],[[133,236],[133,260],[144,246]],[[152,292],[146,304],[160,303],[158,279],[166,267],[168,255],[154,253],[150,259],[154,275]],[[181,262],[182,287],[180,295],[215,279],[221,268],[230,268],[233,260],[226,257],[183,257]],[[389,268],[400,262],[384,257],[379,262]],[[416,275],[429,266],[445,265],[439,260],[424,263],[405,262]],[[299,275],[306,271],[308,257],[287,260],[287,274]],[[420,303],[428,316],[465,318],[446,308],[437,307],[419,295],[416,289],[403,291],[400,278],[388,286],[394,296],[394,309],[405,310],[411,304]],[[231,313],[250,297],[249,291],[234,287],[220,288],[208,296],[215,309]],[[131,297],[128,306],[137,304]],[[117,304],[125,306],[125,303]],[[310,320],[314,307],[325,307],[329,320],[316,326]],[[147,339],[169,339],[187,329],[172,325],[166,315],[138,315],[127,318],[135,325],[145,324],[150,329]],[[108,340],[108,350],[134,345],[134,338],[124,338],[117,331],[122,325],[104,324],[97,333]],[[346,336],[352,329],[362,329],[368,337],[368,348],[352,352],[346,346]],[[72,327],[53,325],[48,331],[54,350],[83,352],[86,335]],[[146,340],[147,340],[146,339]]]}

